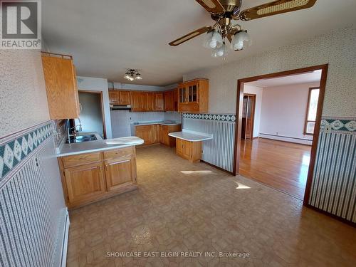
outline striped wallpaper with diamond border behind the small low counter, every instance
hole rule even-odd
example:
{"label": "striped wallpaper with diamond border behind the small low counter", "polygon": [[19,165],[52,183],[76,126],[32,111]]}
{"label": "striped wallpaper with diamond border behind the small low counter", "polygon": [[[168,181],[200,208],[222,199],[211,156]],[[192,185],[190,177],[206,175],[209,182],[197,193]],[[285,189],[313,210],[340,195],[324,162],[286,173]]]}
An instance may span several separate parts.
{"label": "striped wallpaper with diamond border behind the small low counter", "polygon": [[213,135],[203,142],[201,159],[229,172],[234,170],[235,115],[183,114],[183,127],[187,130]]}

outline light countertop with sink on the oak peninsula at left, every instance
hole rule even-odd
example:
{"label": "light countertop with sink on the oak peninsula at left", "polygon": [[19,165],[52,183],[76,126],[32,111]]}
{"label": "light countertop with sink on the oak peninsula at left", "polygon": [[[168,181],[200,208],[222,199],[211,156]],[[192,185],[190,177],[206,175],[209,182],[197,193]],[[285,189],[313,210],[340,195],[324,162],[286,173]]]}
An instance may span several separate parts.
{"label": "light countertop with sink on the oak peninsula at left", "polygon": [[132,145],[141,145],[144,143],[139,137],[119,137],[107,140],[95,140],[73,144],[63,144],[57,157],[64,157],[70,155],[78,155],[90,152],[97,152],[103,150],[112,150],[114,148],[131,147]]}

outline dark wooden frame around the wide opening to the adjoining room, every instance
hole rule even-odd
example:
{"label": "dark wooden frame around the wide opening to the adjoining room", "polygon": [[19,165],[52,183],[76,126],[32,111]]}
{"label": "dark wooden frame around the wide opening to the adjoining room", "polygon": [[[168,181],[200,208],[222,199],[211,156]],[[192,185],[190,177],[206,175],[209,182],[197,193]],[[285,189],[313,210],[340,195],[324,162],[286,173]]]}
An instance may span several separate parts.
{"label": "dark wooden frame around the wide opening to the adjoining room", "polygon": [[313,135],[313,144],[312,144],[311,152],[310,152],[308,178],[307,178],[307,182],[306,182],[306,186],[305,186],[305,193],[304,193],[304,200],[303,200],[303,204],[308,205],[311,184],[313,182],[315,157],[316,157],[316,151],[317,151],[317,147],[318,147],[318,140],[319,140],[319,133],[320,133],[320,122],[321,122],[321,115],[323,112],[323,103],[324,103],[324,96],[325,96],[325,86],[326,86],[326,79],[328,76],[328,66],[329,66],[329,64],[324,64],[324,65],[318,65],[318,66],[311,66],[311,67],[307,67],[307,68],[298,68],[295,70],[286,70],[286,71],[281,71],[278,73],[258,75],[258,76],[253,76],[253,77],[248,77],[248,78],[243,78],[243,79],[237,80],[235,147],[234,147],[234,169],[233,169],[234,175],[239,174],[240,147],[241,147],[241,123],[242,123],[242,105],[240,105],[240,103],[243,103],[243,101],[244,101],[244,83],[249,83],[249,82],[253,82],[256,80],[260,80],[260,79],[290,76],[290,75],[296,75],[296,74],[300,74],[300,73],[308,73],[308,72],[312,72],[314,70],[321,70],[318,108],[317,108],[315,129],[314,129],[314,135]]}

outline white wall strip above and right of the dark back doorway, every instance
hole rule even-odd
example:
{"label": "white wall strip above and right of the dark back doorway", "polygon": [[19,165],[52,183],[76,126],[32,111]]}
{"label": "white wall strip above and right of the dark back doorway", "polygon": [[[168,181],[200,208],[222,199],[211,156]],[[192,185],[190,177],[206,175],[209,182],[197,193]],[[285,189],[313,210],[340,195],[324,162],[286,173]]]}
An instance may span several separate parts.
{"label": "white wall strip above and right of the dark back doorway", "polygon": [[103,78],[78,76],[77,82],[78,82],[78,90],[91,90],[91,91],[103,92],[103,107],[104,107],[104,115],[105,115],[106,137],[110,139],[112,137],[112,130],[111,130],[108,80]]}

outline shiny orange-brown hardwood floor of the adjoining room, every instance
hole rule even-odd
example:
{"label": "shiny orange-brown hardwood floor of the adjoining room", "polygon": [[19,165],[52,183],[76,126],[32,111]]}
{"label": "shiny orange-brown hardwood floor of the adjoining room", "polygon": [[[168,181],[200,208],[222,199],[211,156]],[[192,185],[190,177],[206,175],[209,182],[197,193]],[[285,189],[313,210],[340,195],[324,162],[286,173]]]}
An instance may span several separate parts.
{"label": "shiny orange-brown hardwood floor of the adjoining room", "polygon": [[257,138],[241,140],[239,173],[303,199],[311,147]]}

